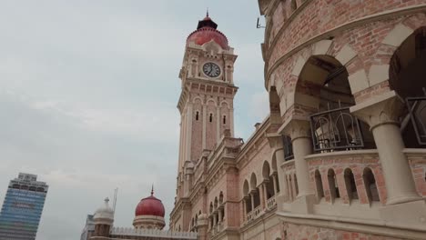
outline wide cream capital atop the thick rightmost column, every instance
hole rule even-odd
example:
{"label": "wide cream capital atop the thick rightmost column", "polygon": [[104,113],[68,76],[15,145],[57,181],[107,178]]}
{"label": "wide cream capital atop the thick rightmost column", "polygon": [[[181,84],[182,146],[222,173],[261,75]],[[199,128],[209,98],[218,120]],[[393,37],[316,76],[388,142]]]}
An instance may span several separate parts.
{"label": "wide cream capital atop the thick rightmost column", "polygon": [[395,91],[373,96],[370,100],[350,107],[350,113],[370,125],[400,125],[398,117],[404,108],[404,101]]}

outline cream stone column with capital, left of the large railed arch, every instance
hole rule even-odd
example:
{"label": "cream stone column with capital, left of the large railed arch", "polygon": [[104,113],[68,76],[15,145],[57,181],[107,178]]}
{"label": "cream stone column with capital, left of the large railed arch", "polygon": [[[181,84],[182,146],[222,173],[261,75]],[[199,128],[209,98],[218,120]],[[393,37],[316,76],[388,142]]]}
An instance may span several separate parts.
{"label": "cream stone column with capital, left of the large railed arch", "polygon": [[309,167],[306,155],[312,154],[310,122],[308,120],[292,119],[285,124],[283,131],[291,137],[293,146],[294,165],[298,178],[299,196],[314,195],[309,184]]}

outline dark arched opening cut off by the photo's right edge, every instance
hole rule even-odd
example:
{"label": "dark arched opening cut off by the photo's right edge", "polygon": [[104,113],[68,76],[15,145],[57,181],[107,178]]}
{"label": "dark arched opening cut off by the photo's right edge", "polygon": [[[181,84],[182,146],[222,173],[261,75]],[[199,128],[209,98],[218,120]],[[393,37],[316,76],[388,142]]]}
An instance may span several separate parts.
{"label": "dark arched opening cut off by the photo's right edge", "polygon": [[426,26],[414,31],[391,57],[389,84],[406,101],[401,134],[406,147],[426,145]]}

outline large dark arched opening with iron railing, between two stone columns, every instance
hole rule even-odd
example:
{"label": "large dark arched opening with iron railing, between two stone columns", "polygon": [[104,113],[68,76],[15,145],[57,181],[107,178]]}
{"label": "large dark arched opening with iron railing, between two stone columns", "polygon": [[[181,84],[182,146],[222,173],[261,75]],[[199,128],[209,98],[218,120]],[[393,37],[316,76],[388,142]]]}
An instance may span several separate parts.
{"label": "large dark arched opening with iron railing, between two stone columns", "polygon": [[350,114],[355,99],[348,77],[346,67],[330,55],[310,56],[300,72],[296,113],[309,116],[317,153],[375,147],[369,127]]}

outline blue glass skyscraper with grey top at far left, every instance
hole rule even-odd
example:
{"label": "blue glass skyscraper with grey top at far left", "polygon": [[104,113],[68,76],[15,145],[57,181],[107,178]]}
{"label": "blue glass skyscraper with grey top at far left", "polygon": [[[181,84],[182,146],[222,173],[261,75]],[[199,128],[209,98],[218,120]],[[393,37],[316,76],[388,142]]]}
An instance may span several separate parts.
{"label": "blue glass skyscraper with grey top at far left", "polygon": [[34,240],[48,185],[20,173],[10,181],[0,213],[0,240]]}

